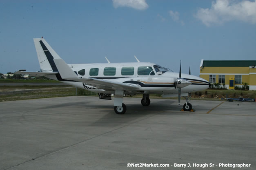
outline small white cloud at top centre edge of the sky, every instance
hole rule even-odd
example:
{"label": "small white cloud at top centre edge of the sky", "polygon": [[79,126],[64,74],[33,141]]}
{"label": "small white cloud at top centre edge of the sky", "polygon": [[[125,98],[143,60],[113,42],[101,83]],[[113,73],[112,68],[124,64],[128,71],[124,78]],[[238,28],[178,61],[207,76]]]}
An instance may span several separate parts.
{"label": "small white cloud at top centre edge of the sky", "polygon": [[118,7],[131,7],[134,9],[147,9],[149,6],[146,0],[112,0],[115,8]]}

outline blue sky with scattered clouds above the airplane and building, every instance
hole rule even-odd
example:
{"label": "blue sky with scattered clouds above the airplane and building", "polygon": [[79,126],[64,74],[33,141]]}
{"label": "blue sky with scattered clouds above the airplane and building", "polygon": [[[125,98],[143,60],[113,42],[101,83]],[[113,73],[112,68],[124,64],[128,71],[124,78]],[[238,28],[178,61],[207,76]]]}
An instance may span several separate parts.
{"label": "blue sky with scattered clouds above the airplane and building", "polygon": [[256,60],[251,0],[1,0],[0,73],[39,71],[33,38],[68,64],[154,62],[199,75],[204,60]]}

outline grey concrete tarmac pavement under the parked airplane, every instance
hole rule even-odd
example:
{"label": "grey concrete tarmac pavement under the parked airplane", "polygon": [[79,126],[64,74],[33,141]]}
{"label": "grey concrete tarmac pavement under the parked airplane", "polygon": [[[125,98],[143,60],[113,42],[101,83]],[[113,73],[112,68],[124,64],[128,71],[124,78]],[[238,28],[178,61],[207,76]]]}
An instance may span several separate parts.
{"label": "grey concrete tarmac pavement under the parked airplane", "polygon": [[[192,100],[196,112],[182,112],[176,100],[140,100],[125,97],[125,115],[98,97],[0,102],[0,170],[256,169],[256,102]],[[251,165],[174,167],[188,163]]]}

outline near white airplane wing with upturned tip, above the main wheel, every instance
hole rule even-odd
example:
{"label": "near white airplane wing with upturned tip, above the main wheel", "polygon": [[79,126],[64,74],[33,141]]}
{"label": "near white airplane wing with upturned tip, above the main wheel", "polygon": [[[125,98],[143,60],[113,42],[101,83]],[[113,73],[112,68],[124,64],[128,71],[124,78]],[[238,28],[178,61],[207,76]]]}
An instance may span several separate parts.
{"label": "near white airplane wing with upturned tip, above the main wheel", "polygon": [[120,83],[116,81],[110,81],[105,79],[95,79],[95,78],[89,78],[89,77],[78,77],[76,73],[73,72],[73,70],[65,63],[62,59],[53,59],[56,67],[58,68],[58,71],[60,73],[60,76],[62,79],[68,79],[68,80],[74,80],[76,82],[83,82],[85,84],[88,84],[90,86],[94,86],[96,88],[100,89],[111,89],[111,90],[138,90],[140,89],[139,85],[135,84],[127,84],[127,83]]}

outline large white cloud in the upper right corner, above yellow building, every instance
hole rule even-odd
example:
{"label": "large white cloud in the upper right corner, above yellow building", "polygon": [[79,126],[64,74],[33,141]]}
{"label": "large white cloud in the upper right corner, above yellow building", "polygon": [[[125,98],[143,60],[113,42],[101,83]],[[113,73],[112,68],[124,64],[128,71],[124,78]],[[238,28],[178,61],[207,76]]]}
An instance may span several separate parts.
{"label": "large white cloud in the upper right corner, above yellow building", "polygon": [[231,20],[241,20],[244,22],[256,23],[256,1],[249,0],[229,1],[216,0],[211,3],[211,8],[200,8],[196,18],[201,20],[206,26],[211,24],[221,24]]}

